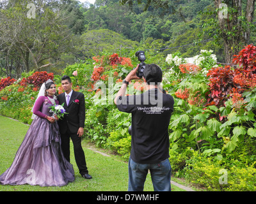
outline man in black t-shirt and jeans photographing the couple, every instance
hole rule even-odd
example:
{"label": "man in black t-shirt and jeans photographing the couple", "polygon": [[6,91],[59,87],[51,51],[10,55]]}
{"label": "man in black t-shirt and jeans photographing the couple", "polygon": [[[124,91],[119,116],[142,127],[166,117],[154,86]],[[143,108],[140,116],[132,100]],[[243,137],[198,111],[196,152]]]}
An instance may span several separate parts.
{"label": "man in black t-shirt and jeans photographing the couple", "polygon": [[148,170],[154,191],[171,191],[168,126],[174,101],[159,86],[162,71],[156,64],[145,64],[143,81],[147,91],[140,95],[125,96],[129,82],[140,79],[137,73],[139,66],[125,77],[115,98],[118,110],[132,113],[128,191],[143,191]]}

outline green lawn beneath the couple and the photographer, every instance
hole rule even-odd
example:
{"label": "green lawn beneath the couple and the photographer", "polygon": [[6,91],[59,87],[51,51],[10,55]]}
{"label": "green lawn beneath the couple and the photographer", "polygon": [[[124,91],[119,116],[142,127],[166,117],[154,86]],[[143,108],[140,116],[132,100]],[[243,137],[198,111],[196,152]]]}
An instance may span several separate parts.
{"label": "green lawn beneath the couple and the photographer", "polygon": [[[29,129],[21,122],[0,115],[0,174],[10,167],[15,154]],[[40,187],[40,186],[10,186],[0,185],[0,191],[127,191],[128,164],[118,156],[103,156],[91,149],[88,143],[82,142],[86,163],[93,179],[86,180],[81,177],[74,160],[72,142],[70,143],[70,163],[74,166],[76,180],[67,186]],[[144,191],[154,191],[150,175],[147,176]],[[184,191],[172,185],[172,191]]]}

